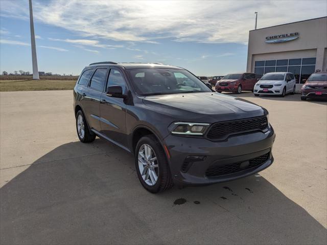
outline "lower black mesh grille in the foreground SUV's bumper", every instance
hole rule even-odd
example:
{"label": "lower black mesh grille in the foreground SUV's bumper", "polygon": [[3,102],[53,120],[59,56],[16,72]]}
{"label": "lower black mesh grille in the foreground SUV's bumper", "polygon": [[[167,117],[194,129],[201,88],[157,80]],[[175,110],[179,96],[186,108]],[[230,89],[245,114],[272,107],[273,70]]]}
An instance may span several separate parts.
{"label": "lower black mesh grille in the foreground SUV's bumper", "polygon": [[254,167],[259,167],[261,164],[263,164],[269,159],[269,155],[270,152],[248,160],[249,164],[246,167],[240,166],[244,161],[236,162],[232,164],[225,164],[225,165],[212,165],[208,167],[208,169],[205,171],[205,175],[207,177],[218,177],[222,175],[237,173],[239,171],[243,171]]}

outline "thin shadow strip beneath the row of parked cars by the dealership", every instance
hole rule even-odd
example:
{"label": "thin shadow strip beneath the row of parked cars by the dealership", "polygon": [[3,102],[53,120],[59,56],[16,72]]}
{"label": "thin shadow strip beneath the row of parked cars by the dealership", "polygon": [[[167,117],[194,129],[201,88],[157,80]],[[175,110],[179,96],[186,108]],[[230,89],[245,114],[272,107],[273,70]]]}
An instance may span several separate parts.
{"label": "thin shadow strip beneath the row of parked cars by the dealership", "polygon": [[235,96],[235,97],[241,97],[241,98],[260,98],[263,100],[273,100],[273,101],[297,101],[297,102],[303,102],[303,103],[316,103],[320,105],[327,105],[327,102],[324,100],[313,100],[313,99],[307,99],[306,101],[301,101],[301,95],[300,94],[287,94],[285,97],[279,97],[276,95],[260,95],[254,96],[254,93],[252,92],[242,92],[241,94],[235,94],[235,93],[224,93],[227,95]]}

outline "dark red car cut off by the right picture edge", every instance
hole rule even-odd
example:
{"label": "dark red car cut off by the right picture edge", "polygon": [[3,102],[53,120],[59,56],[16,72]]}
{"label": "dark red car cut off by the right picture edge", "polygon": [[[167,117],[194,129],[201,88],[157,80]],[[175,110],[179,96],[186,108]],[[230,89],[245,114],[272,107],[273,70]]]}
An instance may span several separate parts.
{"label": "dark red car cut off by the right picture edge", "polygon": [[302,86],[301,100],[307,98],[327,100],[327,72],[312,74]]}

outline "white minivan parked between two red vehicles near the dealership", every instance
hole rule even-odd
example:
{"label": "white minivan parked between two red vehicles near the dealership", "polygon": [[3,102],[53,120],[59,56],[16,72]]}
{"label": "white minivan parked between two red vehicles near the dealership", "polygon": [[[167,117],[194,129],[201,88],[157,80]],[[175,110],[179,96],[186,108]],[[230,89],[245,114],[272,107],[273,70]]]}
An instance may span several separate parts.
{"label": "white minivan parked between two red vehicles near the dealership", "polygon": [[260,94],[281,95],[295,93],[295,77],[291,72],[266,73],[255,85],[254,95]]}

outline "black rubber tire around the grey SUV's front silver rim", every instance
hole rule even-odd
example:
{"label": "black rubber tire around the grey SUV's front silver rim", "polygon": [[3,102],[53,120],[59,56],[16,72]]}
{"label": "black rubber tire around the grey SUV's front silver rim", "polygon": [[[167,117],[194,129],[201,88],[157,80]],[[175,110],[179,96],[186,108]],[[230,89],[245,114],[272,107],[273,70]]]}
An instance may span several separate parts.
{"label": "black rubber tire around the grey SUV's front silver rim", "polygon": [[[138,151],[143,144],[148,144],[153,149],[158,164],[158,179],[154,185],[148,185],[142,178],[138,167]],[[166,158],[164,149],[154,135],[147,135],[138,140],[135,148],[135,168],[139,181],[142,186],[149,192],[158,193],[170,189],[173,186],[173,180],[170,173],[169,163]]]}

